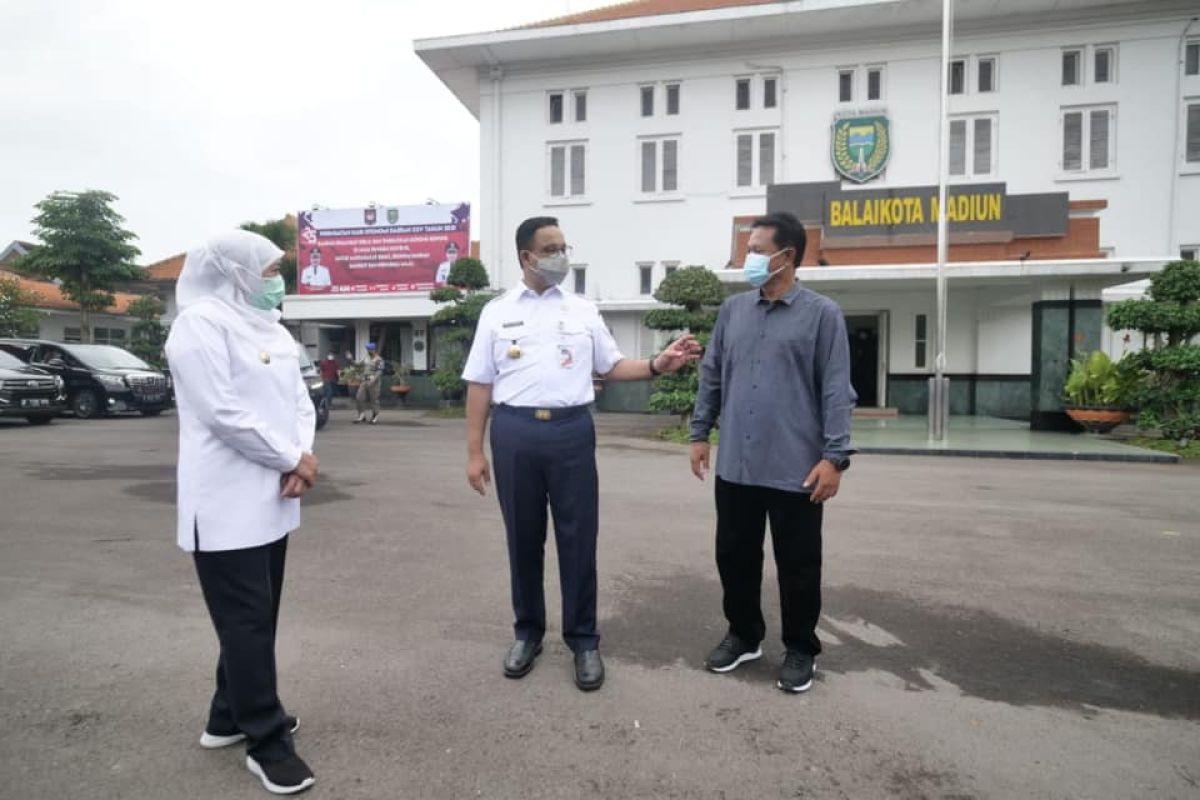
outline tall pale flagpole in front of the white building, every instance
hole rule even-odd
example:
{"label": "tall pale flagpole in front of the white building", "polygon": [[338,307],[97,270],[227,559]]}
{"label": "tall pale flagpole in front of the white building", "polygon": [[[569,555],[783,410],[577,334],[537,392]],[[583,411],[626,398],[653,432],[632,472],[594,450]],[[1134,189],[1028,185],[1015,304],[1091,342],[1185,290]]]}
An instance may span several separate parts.
{"label": "tall pale flagpole in front of the white building", "polygon": [[950,161],[950,30],[954,25],[954,0],[942,0],[942,80],[938,110],[937,149],[937,355],[934,359],[934,379],[929,386],[929,432],[935,441],[946,439],[950,414],[950,387],[946,378],[946,263],[949,252],[949,225],[946,215],[947,180]]}

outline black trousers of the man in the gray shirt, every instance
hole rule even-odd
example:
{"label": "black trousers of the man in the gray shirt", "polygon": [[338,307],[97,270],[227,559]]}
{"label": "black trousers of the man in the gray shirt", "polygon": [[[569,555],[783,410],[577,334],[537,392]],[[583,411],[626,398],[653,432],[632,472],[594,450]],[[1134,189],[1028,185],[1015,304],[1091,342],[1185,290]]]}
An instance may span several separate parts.
{"label": "black trousers of the man in the gray shirt", "polygon": [[762,618],[762,546],[767,521],[779,573],[784,646],[821,652],[822,506],[808,494],[716,479],[716,569],[725,618],[738,638],[756,644],[767,636]]}

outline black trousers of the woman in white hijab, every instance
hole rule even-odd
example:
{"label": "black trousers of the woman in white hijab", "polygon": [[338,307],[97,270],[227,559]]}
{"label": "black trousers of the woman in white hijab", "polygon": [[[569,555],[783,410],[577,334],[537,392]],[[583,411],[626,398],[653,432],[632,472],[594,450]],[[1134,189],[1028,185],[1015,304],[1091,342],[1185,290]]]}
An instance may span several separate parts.
{"label": "black trousers of the woman in white hijab", "polygon": [[275,678],[275,628],[288,537],[240,551],[193,554],[221,642],[206,730],[246,734],[247,752],[277,760],[294,752]]}

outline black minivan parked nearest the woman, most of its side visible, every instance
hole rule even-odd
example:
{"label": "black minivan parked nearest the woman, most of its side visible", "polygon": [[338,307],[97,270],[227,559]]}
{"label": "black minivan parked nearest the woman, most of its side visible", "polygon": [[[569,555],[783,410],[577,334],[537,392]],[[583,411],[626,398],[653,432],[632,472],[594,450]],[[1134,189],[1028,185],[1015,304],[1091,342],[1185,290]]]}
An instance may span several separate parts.
{"label": "black minivan parked nearest the woman, most of its side visible", "polygon": [[0,339],[0,350],[59,375],[80,419],[115,411],[157,416],[170,408],[170,379],[128,350],[108,344]]}

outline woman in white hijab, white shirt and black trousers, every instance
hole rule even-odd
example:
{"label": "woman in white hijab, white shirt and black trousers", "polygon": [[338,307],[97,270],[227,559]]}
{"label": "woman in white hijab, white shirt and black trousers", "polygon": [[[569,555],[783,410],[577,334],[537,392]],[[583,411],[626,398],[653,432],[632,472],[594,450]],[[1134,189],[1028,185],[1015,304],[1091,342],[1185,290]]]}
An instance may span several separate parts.
{"label": "woman in white hijab, white shirt and black trousers", "polygon": [[275,794],[312,786],[276,691],[275,627],[288,533],[317,480],[316,415],[269,240],[236,230],[187,254],[167,339],[179,407],[179,546],[193,554],[221,643],[204,747],[245,740]]}

